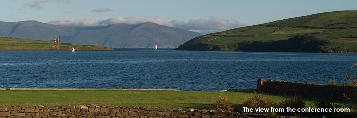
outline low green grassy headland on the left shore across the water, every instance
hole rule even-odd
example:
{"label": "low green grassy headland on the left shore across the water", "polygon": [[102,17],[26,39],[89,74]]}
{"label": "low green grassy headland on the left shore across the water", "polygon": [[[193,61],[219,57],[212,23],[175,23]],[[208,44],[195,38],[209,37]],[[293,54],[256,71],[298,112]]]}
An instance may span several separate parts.
{"label": "low green grassy headland on the left shore across the water", "polygon": [[[75,47],[76,50],[113,50],[96,45],[60,44],[60,50],[72,50],[73,47]],[[0,37],[0,50],[57,50],[57,43],[52,41]]]}

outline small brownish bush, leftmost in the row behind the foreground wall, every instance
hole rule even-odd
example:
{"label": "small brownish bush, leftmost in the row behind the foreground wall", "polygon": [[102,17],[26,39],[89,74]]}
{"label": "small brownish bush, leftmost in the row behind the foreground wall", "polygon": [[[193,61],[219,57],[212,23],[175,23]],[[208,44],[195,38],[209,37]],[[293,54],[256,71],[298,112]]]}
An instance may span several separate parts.
{"label": "small brownish bush, leftmost in the row behind the foreground wall", "polygon": [[214,110],[234,112],[234,104],[226,98],[220,98],[216,102],[213,103]]}

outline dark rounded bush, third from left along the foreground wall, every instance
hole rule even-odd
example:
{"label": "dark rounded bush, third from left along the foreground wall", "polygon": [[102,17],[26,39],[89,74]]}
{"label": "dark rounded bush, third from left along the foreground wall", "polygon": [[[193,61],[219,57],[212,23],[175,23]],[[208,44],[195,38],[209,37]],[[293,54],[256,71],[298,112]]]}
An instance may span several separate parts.
{"label": "dark rounded bush, third from left along the foreground wall", "polygon": [[[297,110],[298,108],[304,108],[305,104],[306,103],[302,100],[301,96],[293,96],[292,98],[285,97],[285,100],[281,102],[278,107],[284,109],[290,107]],[[279,112],[278,114],[284,116],[301,116],[301,113],[299,112]]]}

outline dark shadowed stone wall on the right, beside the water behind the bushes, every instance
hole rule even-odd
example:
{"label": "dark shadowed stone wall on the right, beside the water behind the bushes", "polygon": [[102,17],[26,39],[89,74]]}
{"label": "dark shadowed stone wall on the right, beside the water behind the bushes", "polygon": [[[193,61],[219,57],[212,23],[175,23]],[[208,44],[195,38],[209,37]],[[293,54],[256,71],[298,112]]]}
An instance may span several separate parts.
{"label": "dark shadowed stone wall on the right, beside the water behind the bushes", "polygon": [[258,79],[257,91],[344,101],[343,94],[349,97],[356,97],[354,94],[357,93],[357,88]]}

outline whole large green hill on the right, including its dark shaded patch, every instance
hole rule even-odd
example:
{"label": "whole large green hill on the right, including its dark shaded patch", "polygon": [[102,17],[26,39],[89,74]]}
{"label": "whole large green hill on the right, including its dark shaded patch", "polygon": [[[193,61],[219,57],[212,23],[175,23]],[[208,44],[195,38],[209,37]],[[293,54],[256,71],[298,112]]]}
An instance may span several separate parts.
{"label": "whole large green hill on the right, including its dark shaded patch", "polygon": [[357,52],[357,11],[335,11],[191,39],[177,50]]}

